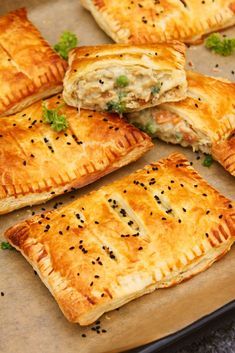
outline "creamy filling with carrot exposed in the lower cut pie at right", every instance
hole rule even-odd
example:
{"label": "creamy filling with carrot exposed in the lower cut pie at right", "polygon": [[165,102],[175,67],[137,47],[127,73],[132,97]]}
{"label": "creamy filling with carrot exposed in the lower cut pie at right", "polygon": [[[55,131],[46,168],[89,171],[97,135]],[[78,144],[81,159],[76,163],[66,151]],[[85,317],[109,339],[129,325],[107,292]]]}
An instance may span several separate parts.
{"label": "creamy filling with carrot exposed in the lower cut pie at right", "polygon": [[194,151],[211,152],[208,136],[195,130],[188,121],[173,112],[150,108],[130,114],[128,119],[152,137],[183,147],[192,146]]}

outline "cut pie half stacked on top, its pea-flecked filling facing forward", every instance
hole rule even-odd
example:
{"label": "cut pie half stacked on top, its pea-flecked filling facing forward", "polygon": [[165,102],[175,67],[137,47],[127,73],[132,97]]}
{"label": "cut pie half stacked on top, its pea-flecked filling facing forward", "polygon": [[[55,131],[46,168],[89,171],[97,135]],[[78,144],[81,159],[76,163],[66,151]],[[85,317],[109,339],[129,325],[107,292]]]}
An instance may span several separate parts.
{"label": "cut pie half stacked on top, its pea-flecked filling facing forward", "polygon": [[185,46],[179,42],[80,47],[70,52],[67,104],[119,114],[186,95]]}

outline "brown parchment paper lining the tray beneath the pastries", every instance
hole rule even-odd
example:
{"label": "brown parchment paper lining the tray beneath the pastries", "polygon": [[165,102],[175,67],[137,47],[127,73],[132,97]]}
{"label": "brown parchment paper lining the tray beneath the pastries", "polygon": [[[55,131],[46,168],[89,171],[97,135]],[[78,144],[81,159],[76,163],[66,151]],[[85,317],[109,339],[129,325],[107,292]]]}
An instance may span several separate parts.
{"label": "brown parchment paper lining the tray beneath the pastries", "polygon": [[[78,0],[0,0],[0,14],[26,6],[30,19],[45,38],[54,44],[60,33],[70,30],[78,34],[81,45],[111,42],[98,28]],[[235,36],[235,30],[224,33]],[[235,56],[219,57],[203,46],[188,50],[188,62],[195,69],[234,81]],[[219,67],[215,68],[218,64]],[[192,65],[192,63],[191,63]],[[188,66],[192,69],[192,66]],[[156,141],[154,149],[142,159],[106,176],[76,193],[58,197],[46,205],[25,208],[0,217],[0,240],[5,229],[31,216],[32,211],[50,209],[55,202],[68,202],[112,182],[145,164],[183,152],[200,174],[227,197],[235,199],[235,179],[217,163],[210,168],[201,165],[190,149]],[[195,320],[210,314],[235,299],[235,247],[206,272],[170,289],[157,290],[101,318],[101,332],[81,328],[67,322],[46,287],[31,266],[16,251],[0,250],[0,352],[1,353],[112,353],[127,350],[174,333]],[[86,334],[86,337],[82,337]]]}

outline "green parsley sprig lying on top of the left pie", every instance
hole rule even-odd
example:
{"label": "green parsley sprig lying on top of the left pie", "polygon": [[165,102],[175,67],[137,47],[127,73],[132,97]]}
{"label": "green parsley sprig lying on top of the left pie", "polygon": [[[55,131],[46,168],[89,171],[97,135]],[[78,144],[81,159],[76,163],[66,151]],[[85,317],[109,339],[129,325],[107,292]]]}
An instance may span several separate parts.
{"label": "green parsley sprig lying on top of the left pie", "polygon": [[60,115],[59,110],[64,104],[59,105],[56,109],[48,109],[46,103],[42,103],[42,118],[43,122],[50,124],[51,128],[56,132],[66,130],[69,126],[66,116]]}

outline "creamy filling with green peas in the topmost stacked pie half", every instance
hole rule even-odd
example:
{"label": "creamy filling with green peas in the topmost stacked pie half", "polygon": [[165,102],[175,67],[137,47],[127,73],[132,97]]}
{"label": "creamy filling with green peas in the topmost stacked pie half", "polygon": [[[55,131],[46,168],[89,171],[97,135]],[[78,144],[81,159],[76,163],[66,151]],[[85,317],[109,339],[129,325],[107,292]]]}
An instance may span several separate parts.
{"label": "creamy filling with green peas in the topmost stacked pie half", "polygon": [[141,66],[111,67],[86,74],[74,94],[82,107],[122,114],[146,103],[155,104],[172,87],[175,83],[167,73]]}

